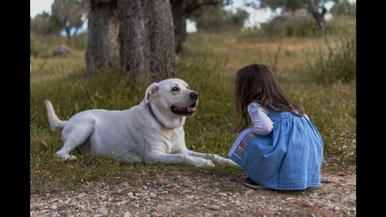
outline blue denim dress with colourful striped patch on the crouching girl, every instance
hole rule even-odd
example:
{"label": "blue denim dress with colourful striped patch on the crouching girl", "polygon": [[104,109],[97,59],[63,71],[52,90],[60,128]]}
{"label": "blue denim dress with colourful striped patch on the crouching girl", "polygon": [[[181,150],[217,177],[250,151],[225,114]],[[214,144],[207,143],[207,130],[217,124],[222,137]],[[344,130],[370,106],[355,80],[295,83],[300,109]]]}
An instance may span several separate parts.
{"label": "blue denim dress with colourful striped patch on the crouching girl", "polygon": [[242,131],[229,158],[256,183],[276,190],[301,190],[320,185],[323,141],[305,116],[268,112],[273,131],[257,135],[252,127]]}

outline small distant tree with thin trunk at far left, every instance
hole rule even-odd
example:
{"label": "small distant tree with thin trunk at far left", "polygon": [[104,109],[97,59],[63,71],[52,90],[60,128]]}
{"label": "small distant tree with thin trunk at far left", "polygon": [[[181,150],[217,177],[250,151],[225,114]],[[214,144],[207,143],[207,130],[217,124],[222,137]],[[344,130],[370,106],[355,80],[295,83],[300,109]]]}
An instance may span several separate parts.
{"label": "small distant tree with thin trunk at far left", "polygon": [[51,6],[52,19],[66,31],[68,46],[71,46],[71,29],[75,35],[82,27],[89,9],[88,0],[54,0]]}

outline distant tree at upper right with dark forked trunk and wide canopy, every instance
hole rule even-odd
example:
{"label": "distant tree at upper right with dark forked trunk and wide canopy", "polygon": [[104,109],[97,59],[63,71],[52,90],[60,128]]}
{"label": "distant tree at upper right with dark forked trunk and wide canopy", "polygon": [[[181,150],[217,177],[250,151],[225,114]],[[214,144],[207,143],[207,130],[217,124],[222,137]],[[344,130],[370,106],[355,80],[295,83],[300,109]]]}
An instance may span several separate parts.
{"label": "distant tree at upper right with dark forked trunk and wide canopy", "polygon": [[327,13],[325,3],[331,1],[338,2],[339,0],[260,0],[260,4],[247,0],[246,4],[255,8],[271,8],[272,10],[281,8],[283,12],[308,10],[316,21],[316,30],[320,31],[323,29],[324,15]]}

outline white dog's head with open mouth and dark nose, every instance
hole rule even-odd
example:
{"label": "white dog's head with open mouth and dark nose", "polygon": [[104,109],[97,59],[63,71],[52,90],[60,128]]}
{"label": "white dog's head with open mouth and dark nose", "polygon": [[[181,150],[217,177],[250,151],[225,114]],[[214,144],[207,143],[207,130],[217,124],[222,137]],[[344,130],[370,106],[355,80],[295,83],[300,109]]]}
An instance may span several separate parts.
{"label": "white dog's head with open mouth and dark nose", "polygon": [[150,103],[157,120],[174,128],[182,126],[186,116],[195,114],[198,95],[185,81],[171,78],[152,83],[146,90],[144,105]]}

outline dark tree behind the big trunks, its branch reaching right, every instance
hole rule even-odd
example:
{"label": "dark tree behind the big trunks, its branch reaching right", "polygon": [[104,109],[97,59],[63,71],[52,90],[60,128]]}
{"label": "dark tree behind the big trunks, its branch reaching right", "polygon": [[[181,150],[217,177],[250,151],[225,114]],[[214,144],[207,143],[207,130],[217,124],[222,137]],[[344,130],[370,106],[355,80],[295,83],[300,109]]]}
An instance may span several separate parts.
{"label": "dark tree behind the big trunks, its branch reaching right", "polygon": [[218,3],[229,4],[231,0],[170,0],[173,12],[174,44],[176,52],[182,51],[182,42],[186,38],[186,19],[189,19],[193,12]]}

